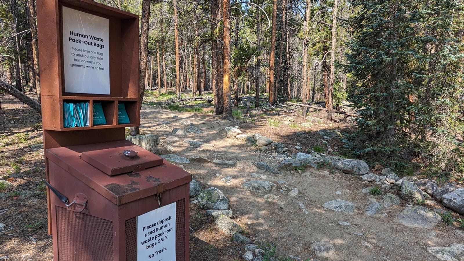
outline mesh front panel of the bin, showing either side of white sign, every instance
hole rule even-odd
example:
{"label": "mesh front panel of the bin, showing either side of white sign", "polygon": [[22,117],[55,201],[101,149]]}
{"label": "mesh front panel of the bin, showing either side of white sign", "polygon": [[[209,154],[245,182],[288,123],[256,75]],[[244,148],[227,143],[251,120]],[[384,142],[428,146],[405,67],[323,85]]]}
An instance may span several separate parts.
{"label": "mesh front panel of the bin, showing either side of white sign", "polygon": [[[185,199],[176,203],[176,261],[185,261]],[[137,217],[126,220],[126,261],[137,261]]]}

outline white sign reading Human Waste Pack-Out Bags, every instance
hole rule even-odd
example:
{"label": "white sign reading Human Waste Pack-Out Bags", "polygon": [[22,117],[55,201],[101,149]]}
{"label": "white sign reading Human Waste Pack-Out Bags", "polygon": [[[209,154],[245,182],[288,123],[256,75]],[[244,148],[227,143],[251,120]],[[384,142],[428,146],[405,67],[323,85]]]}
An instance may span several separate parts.
{"label": "white sign reading Human Waste Pack-Out Bags", "polygon": [[63,7],[64,91],[110,94],[109,21]]}

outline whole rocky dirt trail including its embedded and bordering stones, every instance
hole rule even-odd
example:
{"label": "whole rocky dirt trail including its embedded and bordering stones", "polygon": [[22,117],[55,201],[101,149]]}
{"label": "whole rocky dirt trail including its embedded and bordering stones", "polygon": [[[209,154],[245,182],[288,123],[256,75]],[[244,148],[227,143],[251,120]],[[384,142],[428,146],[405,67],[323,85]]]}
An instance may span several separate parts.
{"label": "whole rocky dirt trail including its embedded and bordering stones", "polygon": [[[214,193],[224,193],[227,202],[219,195],[216,203],[219,209],[232,211],[208,213],[215,213],[216,225],[224,227],[233,240],[249,244],[249,238],[258,246],[272,242],[280,254],[295,260],[464,260],[459,255],[443,259],[446,249],[458,254],[463,250],[452,244],[463,242],[464,237],[458,233],[461,230],[447,226],[428,210],[447,210],[437,201],[429,198],[424,206],[411,206],[424,197],[415,183],[389,169],[381,176],[371,174],[362,161],[302,152],[310,149],[304,145],[310,139],[336,150],[340,132],[331,129],[342,128],[340,124],[313,121],[312,132],[325,130],[315,137],[271,127],[267,121],[232,123],[213,115],[149,106],[142,107],[141,115],[142,134],[160,137],[158,149],[163,157],[191,172],[198,180],[194,182],[197,191],[213,188]],[[287,160],[285,153],[296,158]],[[381,195],[369,194],[368,187],[374,183]],[[403,188],[402,192],[397,188]],[[443,192],[454,189],[449,185]],[[438,196],[447,194],[441,193]],[[205,211],[211,209],[204,194],[192,200],[204,205]],[[408,211],[419,207],[420,211]],[[406,226],[414,220],[424,225]],[[245,260],[259,258],[251,250],[245,254]]]}

